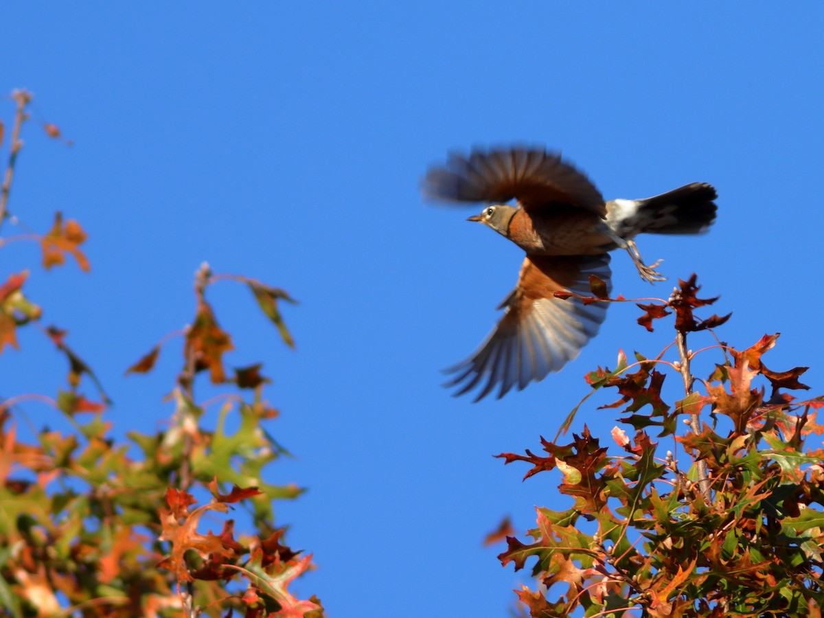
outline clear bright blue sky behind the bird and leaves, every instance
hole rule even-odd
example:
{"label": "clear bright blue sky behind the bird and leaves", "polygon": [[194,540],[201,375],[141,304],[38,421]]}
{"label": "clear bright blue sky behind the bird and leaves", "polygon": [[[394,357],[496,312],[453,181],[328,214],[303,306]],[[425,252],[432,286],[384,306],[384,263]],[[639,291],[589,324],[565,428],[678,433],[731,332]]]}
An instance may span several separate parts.
{"label": "clear bright blue sky behind the bird and leaves", "polygon": [[[297,588],[330,616],[505,616],[521,580],[482,537],[566,502],[550,475],[522,483],[491,455],[555,435],[617,349],[669,338],[611,307],[559,375],[500,401],[450,397],[438,370],[485,337],[522,257],[466,223],[473,210],[421,202],[449,150],[545,143],[607,198],[716,185],[709,235],[641,238],[644,256],[722,295],[730,343],[780,331],[765,362],[811,365],[824,391],[820,2],[8,2],[2,22],[0,89],[34,91],[35,119],[75,142],[29,126],[12,208],[38,229],[60,209],[90,234],[91,274],[35,270],[29,293],[100,374],[120,434],[171,414],[175,344],[151,376],[122,376],[190,321],[202,261],[300,300],[284,309],[292,352],[246,289],[210,296],[229,364],[274,377],[270,430],[297,458],[269,480],[309,488],[279,523],[314,553]],[[2,257],[3,278],[37,259]],[[612,265],[626,297],[672,288],[626,255]],[[21,344],[0,357],[2,393],[54,393],[63,360],[33,331]],[[587,408],[575,429],[606,437],[615,416]]]}

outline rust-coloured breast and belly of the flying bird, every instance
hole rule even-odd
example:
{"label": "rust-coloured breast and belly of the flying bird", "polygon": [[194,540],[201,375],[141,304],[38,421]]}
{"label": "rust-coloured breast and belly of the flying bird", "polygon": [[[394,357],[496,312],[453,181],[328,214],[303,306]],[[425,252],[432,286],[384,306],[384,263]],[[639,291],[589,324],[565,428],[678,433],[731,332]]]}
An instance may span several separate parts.
{"label": "rust-coloured breast and belly of the flying bird", "polygon": [[596,255],[611,242],[604,229],[597,214],[561,206],[537,213],[518,211],[507,237],[528,255]]}

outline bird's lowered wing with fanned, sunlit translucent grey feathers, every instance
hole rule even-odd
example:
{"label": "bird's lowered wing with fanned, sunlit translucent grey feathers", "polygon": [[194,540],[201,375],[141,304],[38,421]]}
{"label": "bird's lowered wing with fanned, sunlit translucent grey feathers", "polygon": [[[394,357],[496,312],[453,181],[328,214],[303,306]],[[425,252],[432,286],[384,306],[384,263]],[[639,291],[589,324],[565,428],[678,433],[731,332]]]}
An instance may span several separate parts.
{"label": "bird's lowered wing with fanned, sunlit translucent grey feathers", "polygon": [[471,358],[447,369],[456,376],[445,386],[460,386],[457,396],[480,385],[478,401],[500,385],[500,399],[516,384],[522,391],[577,357],[597,334],[607,303],[584,305],[578,298],[556,298],[554,293],[567,289],[592,296],[590,274],[611,289],[609,255],[527,257],[498,325]]}

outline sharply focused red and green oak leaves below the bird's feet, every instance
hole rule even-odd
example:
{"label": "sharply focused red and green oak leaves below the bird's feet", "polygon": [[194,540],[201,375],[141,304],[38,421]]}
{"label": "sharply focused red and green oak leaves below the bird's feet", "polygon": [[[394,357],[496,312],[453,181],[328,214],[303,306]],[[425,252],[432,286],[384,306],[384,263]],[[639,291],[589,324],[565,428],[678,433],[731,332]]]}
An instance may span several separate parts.
{"label": "sharply focused red and green oak leaves below the bird's feet", "polygon": [[[593,287],[593,292],[595,288]],[[675,314],[680,359],[621,355],[615,370],[588,375],[593,389],[615,388],[620,448],[609,453],[588,428],[572,442],[541,438],[545,454],[499,455],[531,466],[524,477],[557,468],[565,511],[537,509],[531,541],[508,536],[499,556],[515,569],[535,559],[535,590],[517,591],[531,616],[821,616],[824,605],[824,451],[805,438],[817,424],[821,397],[798,400],[806,368],[775,372],[762,355],[778,335],[736,350],[723,343],[700,350],[723,354],[695,388],[686,335],[723,324],[700,321],[695,275],[660,304],[639,305],[639,324]],[[620,299],[623,300],[623,299]],[[683,378],[685,396],[664,398],[667,372]],[[769,389],[769,390],[768,390]],[[769,392],[770,396],[765,396]],[[702,413],[705,413],[702,415]],[[689,429],[677,434],[677,419]],[[655,439],[671,450],[660,452]],[[673,452],[682,450],[685,470]]]}

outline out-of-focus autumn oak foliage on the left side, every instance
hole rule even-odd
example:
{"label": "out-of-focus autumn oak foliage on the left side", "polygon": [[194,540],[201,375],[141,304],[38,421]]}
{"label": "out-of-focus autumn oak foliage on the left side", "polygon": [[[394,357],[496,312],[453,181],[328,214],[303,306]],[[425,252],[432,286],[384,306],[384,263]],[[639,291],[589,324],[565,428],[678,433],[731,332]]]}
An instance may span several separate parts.
{"label": "out-of-focus autumn oak foliage on the left side", "polygon": [[[22,91],[12,98],[17,110],[0,226],[12,217],[8,196],[30,102]],[[0,144],[2,129],[0,123]],[[59,138],[54,125],[44,129]],[[47,269],[63,265],[67,255],[89,269],[80,248],[85,232],[59,213],[44,234],[4,237],[0,244],[12,238],[39,242]],[[68,386],[54,398],[22,394],[0,402],[0,616],[324,616],[315,597],[300,600],[290,592],[293,579],[311,568],[311,555],[286,545],[283,527],[274,524],[272,500],[295,498],[301,489],[263,480],[265,466],[286,453],[264,428],[278,414],[263,398],[269,379],[260,364],[227,370],[232,338],[206,299],[218,281],[245,284],[293,346],[279,311],[279,301],[291,302],[288,294],[203,265],[195,276],[194,320],[173,334],[183,338],[183,365],[169,396],[171,422],[119,442],[107,420],[108,396],[68,347],[66,332],[41,324],[43,311],[23,293],[27,276],[10,274],[0,284],[0,352],[18,348],[18,330],[34,327],[67,358]],[[160,350],[158,344],[128,372],[150,371]],[[203,426],[208,406],[194,388],[206,375],[229,387],[212,429]],[[90,384],[94,394],[87,396]],[[19,420],[29,420],[30,400],[51,405],[70,429],[32,428],[22,439]],[[231,415],[238,419],[234,433],[227,430]],[[232,486],[228,494],[221,493],[224,485]],[[211,494],[211,502],[190,511],[192,494]],[[253,531],[236,536],[231,519],[219,534],[198,530],[204,513],[227,513],[234,503],[246,507]]]}

